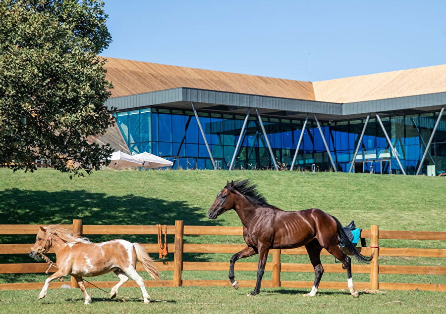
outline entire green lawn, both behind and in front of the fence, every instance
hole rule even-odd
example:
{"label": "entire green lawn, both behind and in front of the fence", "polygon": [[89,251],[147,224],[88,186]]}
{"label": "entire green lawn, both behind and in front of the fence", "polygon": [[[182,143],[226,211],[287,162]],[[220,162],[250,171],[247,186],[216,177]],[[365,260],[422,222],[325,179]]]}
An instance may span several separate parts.
{"label": "entire green lawn, both behind and in front of the fence", "polygon": [[[80,218],[83,224],[174,224],[183,220],[185,225],[240,226],[234,211],[217,220],[207,219],[209,207],[224,187],[226,180],[252,179],[259,191],[283,210],[320,208],[339,219],[342,224],[355,220],[358,227],[370,228],[378,224],[387,230],[446,230],[446,179],[415,176],[380,176],[370,174],[308,173],[274,171],[100,171],[85,178],[69,180],[67,175],[53,170],[39,169],[34,173],[0,169],[0,222],[1,224],[70,224]],[[142,243],[156,243],[156,236],[106,235],[92,236],[93,241],[125,238]],[[35,236],[0,236],[0,243],[31,243]],[[173,236],[168,237],[173,242]],[[243,243],[241,236],[185,236],[185,243]],[[420,247],[446,249],[442,241],[380,240],[382,247]],[[172,254],[167,256],[172,259]],[[157,256],[153,254],[155,260]],[[225,261],[230,254],[185,254],[184,261]],[[0,255],[0,263],[33,263],[26,255]],[[271,256],[270,256],[271,260]],[[257,257],[238,263],[256,262]],[[309,263],[307,256],[282,256],[284,263]],[[334,263],[331,256],[323,257],[323,263]],[[445,266],[436,258],[381,257],[380,264]],[[143,273],[141,273],[143,274]],[[255,279],[255,272],[236,272],[237,279]],[[171,278],[171,272],[163,272],[163,278]],[[324,281],[345,281],[345,274],[325,273]],[[226,279],[227,272],[185,271],[184,279]],[[265,279],[271,278],[266,272]],[[0,283],[43,282],[44,274],[2,274]],[[92,278],[93,279],[93,278]],[[115,280],[114,275],[96,277],[97,280]],[[314,280],[313,273],[282,273],[283,280]],[[69,280],[69,278],[66,278]],[[368,281],[367,274],[354,274],[354,281]],[[434,282],[446,283],[444,276],[434,275],[380,275],[387,282]],[[308,289],[306,290],[309,290]],[[246,290],[246,291],[244,291]],[[282,312],[351,312],[353,305],[361,312],[442,312],[444,293],[423,291],[386,291],[384,295],[364,294],[360,301],[348,294],[320,289],[321,295],[310,301],[293,289],[263,289],[256,299],[247,299],[249,289],[238,291],[228,288],[150,288],[153,298],[194,300],[193,302],[225,303],[225,307],[180,304],[151,304],[149,309],[163,312],[235,312],[241,303],[247,312],[262,312],[262,305],[275,302]],[[136,288],[126,288],[139,296]],[[151,292],[152,291],[152,292]],[[306,291],[308,292],[308,291]],[[95,301],[102,300],[100,292],[94,292]],[[37,302],[37,291],[0,291],[2,311],[10,312],[22,300],[23,313],[40,310],[63,312],[87,309],[80,301],[79,291],[50,290],[48,296]],[[93,292],[92,292],[93,294]],[[75,295],[75,296],[74,296]],[[202,295],[202,297],[200,297]],[[194,297],[197,296],[197,297]],[[206,296],[206,297],[204,297]],[[230,298],[228,298],[230,296]],[[25,301],[26,299],[26,301]],[[401,300],[401,304],[390,301]],[[73,300],[76,300],[75,302]],[[206,301],[207,300],[207,301]],[[404,301],[405,300],[405,301]],[[212,302],[211,302],[212,301]],[[421,305],[417,305],[421,302]],[[286,304],[285,305],[282,305]],[[99,305],[102,304],[102,305]],[[310,307],[311,304],[311,307]],[[352,305],[353,304],[353,305]],[[429,306],[426,306],[429,304]],[[4,306],[3,306],[4,305]],[[35,307],[38,308],[35,308]],[[283,306],[283,307],[282,307]],[[10,307],[10,308],[8,308]],[[148,309],[136,302],[96,302],[89,307],[92,312],[125,312]],[[299,308],[302,307],[302,308]],[[93,310],[94,309],[94,310]],[[330,309],[330,310],[328,310]],[[370,312],[370,311],[367,311]],[[52,312],[51,312],[52,313]]]}

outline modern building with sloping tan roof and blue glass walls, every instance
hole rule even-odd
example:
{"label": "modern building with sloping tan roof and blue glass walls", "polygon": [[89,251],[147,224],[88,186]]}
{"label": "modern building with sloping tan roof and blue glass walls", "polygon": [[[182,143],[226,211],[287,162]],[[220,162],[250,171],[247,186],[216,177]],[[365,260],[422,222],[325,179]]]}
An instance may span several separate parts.
{"label": "modern building with sloping tan roof and blue glass walls", "polygon": [[446,65],[303,82],[108,61],[110,132],[174,169],[446,171]]}

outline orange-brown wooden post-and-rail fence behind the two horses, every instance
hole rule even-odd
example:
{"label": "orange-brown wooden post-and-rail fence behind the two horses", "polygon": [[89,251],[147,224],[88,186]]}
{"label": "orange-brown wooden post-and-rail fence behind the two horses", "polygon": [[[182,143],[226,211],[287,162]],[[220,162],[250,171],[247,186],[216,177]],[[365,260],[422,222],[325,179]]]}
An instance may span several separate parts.
{"label": "orange-brown wooden post-and-rail fence behind the two horses", "polygon": [[[40,225],[31,224],[1,224],[0,234],[37,234]],[[73,228],[73,233],[79,235],[92,234],[158,234],[156,225],[82,225],[81,220],[73,220],[73,224],[62,225],[67,228]],[[167,226],[167,234],[173,234],[175,237],[174,245],[168,245],[169,254],[173,253],[172,262],[155,262],[160,271],[173,271],[173,280],[153,280],[145,281],[146,286],[228,286],[231,284],[228,279],[224,280],[182,280],[182,271],[187,270],[206,270],[216,271],[229,269],[229,263],[224,262],[183,262],[183,253],[235,253],[245,247],[243,244],[183,244],[184,235],[237,235],[243,234],[242,227],[227,226],[195,226],[183,225],[183,221],[175,221],[175,225]],[[358,289],[390,289],[390,290],[430,290],[445,291],[446,284],[432,283],[396,283],[380,282],[379,274],[430,274],[446,275],[446,267],[442,266],[400,266],[400,265],[379,265],[379,256],[397,256],[397,257],[431,257],[445,258],[445,249],[414,249],[414,248],[389,248],[379,247],[379,239],[414,239],[414,240],[446,240],[446,232],[435,231],[390,231],[379,230],[378,225],[372,225],[370,230],[363,229],[361,238],[370,238],[370,247],[358,248],[364,255],[374,254],[370,265],[352,265],[354,273],[370,273],[370,282],[355,282]],[[2,254],[28,254],[33,244],[0,244],[0,255]],[[142,244],[149,253],[158,253],[158,244]],[[50,250],[50,253],[53,253]],[[348,252],[346,252],[348,254]],[[273,262],[267,263],[265,270],[273,272],[272,280],[263,280],[263,287],[289,287],[289,288],[309,288],[313,281],[289,281],[280,280],[281,272],[313,272],[311,264],[281,263],[280,256],[307,255],[304,247],[296,249],[271,250]],[[323,250],[322,255],[329,255]],[[340,264],[323,265],[325,272],[345,272]],[[48,268],[46,263],[27,263],[27,264],[0,264],[0,273],[36,273],[45,272]],[[54,270],[54,269],[52,269]],[[52,271],[50,270],[50,271]],[[143,271],[141,265],[137,265],[138,271]],[[257,271],[257,263],[237,262],[235,270]],[[255,280],[238,280],[241,287],[254,287]],[[50,287],[60,287],[66,282],[52,282]],[[99,287],[112,287],[116,281],[95,281]],[[41,289],[43,283],[4,283],[0,284],[0,290],[16,289]],[[72,279],[71,286],[77,287],[77,283]],[[87,287],[90,285],[87,283]],[[136,287],[136,282],[128,281],[124,284],[128,287]],[[345,289],[345,281],[321,281],[320,288]]]}

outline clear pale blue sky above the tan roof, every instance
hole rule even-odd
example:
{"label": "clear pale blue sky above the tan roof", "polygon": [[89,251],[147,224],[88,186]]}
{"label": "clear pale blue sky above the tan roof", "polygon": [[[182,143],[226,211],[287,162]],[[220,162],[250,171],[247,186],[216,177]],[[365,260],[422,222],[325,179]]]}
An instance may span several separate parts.
{"label": "clear pale blue sky above the tan roof", "polygon": [[105,0],[102,55],[309,81],[446,64],[446,1]]}

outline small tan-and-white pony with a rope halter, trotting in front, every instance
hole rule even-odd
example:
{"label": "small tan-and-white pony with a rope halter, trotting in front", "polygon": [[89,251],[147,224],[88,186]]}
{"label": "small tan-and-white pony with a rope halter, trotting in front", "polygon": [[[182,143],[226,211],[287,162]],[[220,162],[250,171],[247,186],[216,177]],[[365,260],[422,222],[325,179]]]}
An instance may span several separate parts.
{"label": "small tan-and-white pony with a rope halter, trotting in front", "polygon": [[42,299],[47,294],[48,285],[54,279],[72,275],[85,296],[85,304],[91,303],[82,276],[92,277],[113,271],[120,281],[111,289],[110,298],[116,297],[118,288],[128,280],[128,274],[141,287],[144,303],[150,302],[144,280],[136,271],[136,262],[141,262],[144,269],[154,278],[160,280],[158,270],[153,265],[144,248],[138,243],[125,240],[111,240],[101,243],[92,243],[87,238],[75,238],[69,230],[57,225],[40,227],[36,243],[29,255],[39,260],[53,247],[57,258],[57,271],[45,280],[45,285],[39,294]]}

